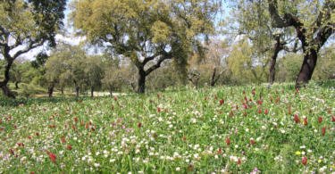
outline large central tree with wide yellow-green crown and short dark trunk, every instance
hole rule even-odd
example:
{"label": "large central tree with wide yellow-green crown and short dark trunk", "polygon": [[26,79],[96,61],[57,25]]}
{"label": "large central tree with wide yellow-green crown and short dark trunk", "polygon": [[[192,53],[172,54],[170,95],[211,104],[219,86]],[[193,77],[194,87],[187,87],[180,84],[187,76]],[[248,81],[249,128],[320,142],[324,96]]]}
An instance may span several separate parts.
{"label": "large central tree with wide yellow-green crown and short dark trunk", "polygon": [[[180,70],[200,40],[214,31],[214,0],[82,0],[74,3],[74,26],[94,43],[108,43],[114,54],[138,68],[138,93],[146,76],[167,59]],[[151,63],[148,63],[151,62]],[[150,64],[150,65],[148,65]]]}

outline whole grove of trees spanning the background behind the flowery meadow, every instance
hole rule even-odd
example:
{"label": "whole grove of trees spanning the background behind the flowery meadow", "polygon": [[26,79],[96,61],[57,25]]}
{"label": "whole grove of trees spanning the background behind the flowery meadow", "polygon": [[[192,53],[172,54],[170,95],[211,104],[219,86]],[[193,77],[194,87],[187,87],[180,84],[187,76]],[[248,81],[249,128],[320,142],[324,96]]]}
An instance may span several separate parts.
{"label": "whole grove of trees spanning the background behind the flowery meadow", "polygon": [[[55,39],[70,32],[65,10],[71,32],[85,38],[79,46]],[[9,97],[188,83],[299,88],[335,78],[334,28],[334,0],[4,0],[0,87]]]}

